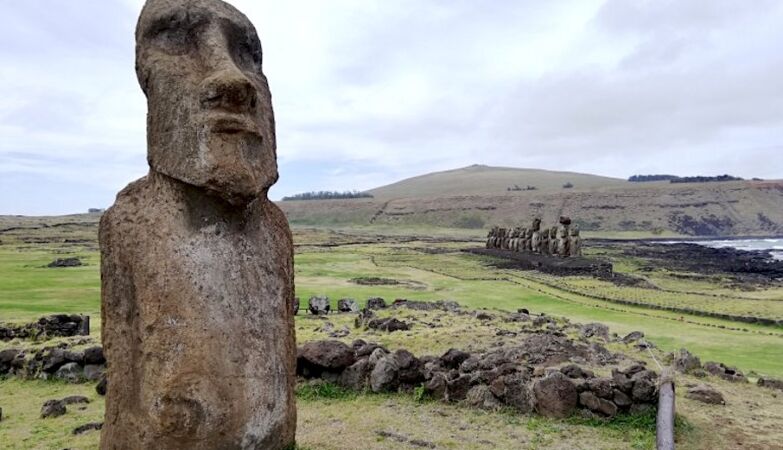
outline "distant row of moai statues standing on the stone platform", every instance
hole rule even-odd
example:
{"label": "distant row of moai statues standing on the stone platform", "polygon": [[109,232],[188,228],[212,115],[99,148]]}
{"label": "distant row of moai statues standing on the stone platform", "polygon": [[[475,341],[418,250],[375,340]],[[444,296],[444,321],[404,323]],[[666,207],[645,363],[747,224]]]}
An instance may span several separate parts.
{"label": "distant row of moai statues standing on the stone platform", "polygon": [[582,256],[579,226],[571,226],[569,217],[560,217],[560,224],[541,229],[541,219],[533,219],[530,228],[492,227],[487,234],[487,248],[550,256]]}

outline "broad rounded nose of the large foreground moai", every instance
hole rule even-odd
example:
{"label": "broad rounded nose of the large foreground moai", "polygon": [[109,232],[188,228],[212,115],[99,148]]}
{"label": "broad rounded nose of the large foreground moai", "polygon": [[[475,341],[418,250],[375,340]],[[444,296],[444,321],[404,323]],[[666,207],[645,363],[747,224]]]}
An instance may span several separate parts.
{"label": "broad rounded nose of the large foreground moai", "polygon": [[203,109],[239,114],[252,113],[258,102],[250,80],[236,69],[221,70],[204,80],[199,100]]}

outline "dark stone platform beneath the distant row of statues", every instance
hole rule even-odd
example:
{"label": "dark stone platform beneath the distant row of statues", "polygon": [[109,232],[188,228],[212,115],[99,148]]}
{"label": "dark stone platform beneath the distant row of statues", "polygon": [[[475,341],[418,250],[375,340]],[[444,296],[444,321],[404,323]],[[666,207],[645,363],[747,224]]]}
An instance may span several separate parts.
{"label": "dark stone platform beneath the distant row of statues", "polygon": [[536,253],[513,252],[497,248],[468,248],[462,250],[475,255],[494,256],[508,260],[508,264],[499,264],[504,269],[538,270],[552,275],[592,275],[612,276],[612,264],[583,256],[559,258]]}

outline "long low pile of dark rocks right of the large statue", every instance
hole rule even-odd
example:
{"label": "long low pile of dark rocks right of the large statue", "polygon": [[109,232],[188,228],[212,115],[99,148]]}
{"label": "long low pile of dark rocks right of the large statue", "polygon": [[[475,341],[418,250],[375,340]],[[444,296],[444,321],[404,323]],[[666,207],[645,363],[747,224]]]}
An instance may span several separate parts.
{"label": "long low pile of dark rocks right of the large statue", "polygon": [[364,340],[350,346],[316,341],[299,349],[297,374],[357,391],[423,386],[427,395],[443,401],[549,417],[566,417],[579,408],[601,417],[655,408],[658,375],[643,365],[613,368],[611,377],[596,377],[576,364],[551,367],[572,357],[595,360],[593,353],[551,334],[483,354],[450,349],[440,357],[416,357]]}

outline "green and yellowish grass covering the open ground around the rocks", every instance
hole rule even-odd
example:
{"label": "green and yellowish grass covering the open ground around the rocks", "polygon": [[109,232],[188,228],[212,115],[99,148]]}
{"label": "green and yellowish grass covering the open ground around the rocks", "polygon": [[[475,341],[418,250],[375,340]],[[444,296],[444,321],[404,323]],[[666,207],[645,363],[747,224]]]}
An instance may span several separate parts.
{"label": "green and yellowish grass covering the open ground around the rocks", "polygon": [[[27,322],[48,313],[85,313],[93,317],[93,339],[100,334],[100,274],[95,225],[13,230],[0,235],[0,322]],[[418,235],[415,237],[414,235]],[[537,272],[496,269],[492,259],[460,252],[479,236],[463,230],[426,227],[355,227],[294,230],[297,296],[303,308],[312,295],[327,295],[336,304],[350,297],[363,304],[369,297],[456,300],[467,308],[565,316],[574,322],[601,322],[619,334],[643,331],[663,352],[685,347],[702,361],[736,365],[751,378],[783,377],[783,330],[698,316],[625,306],[597,300],[602,295],[641,302],[674,302],[704,310],[780,315],[779,287],[744,292],[720,280],[675,278],[667,273],[645,274],[666,291],[615,286],[592,278],[558,278]],[[85,265],[47,268],[55,258],[78,256]],[[620,271],[638,275],[632,260],[616,260]],[[391,285],[360,285],[361,277],[396,280]],[[753,306],[750,309],[749,305]],[[402,313],[405,318],[407,313]],[[405,347],[416,354],[439,354],[451,347],[486,348],[497,340],[492,326],[470,318],[442,327],[416,327],[405,333],[360,332],[349,315],[330,316],[335,328],[351,329],[345,341],[361,337],[390,348]],[[417,320],[429,320],[420,316]],[[300,313],[297,340],[324,339],[324,321]],[[722,328],[721,328],[722,327]],[[19,345],[2,343],[0,349]],[[627,348],[610,348],[627,351]],[[661,353],[662,354],[662,353]],[[636,354],[649,360],[646,353]],[[652,364],[652,362],[650,361]],[[682,382],[699,380],[687,377]],[[766,390],[710,379],[726,395],[731,409],[706,408],[678,391],[678,411],[690,424],[681,430],[680,448],[731,448],[728,442],[755,442],[746,448],[775,448],[773,431],[783,420],[783,407]],[[103,398],[92,384],[0,380],[2,448],[96,448],[99,433],[74,437],[70,430],[100,421]],[[38,419],[47,399],[83,394],[92,402],[84,410],[69,407],[65,416]],[[412,395],[332,395],[300,392],[298,440],[302,449],[400,448],[394,436],[423,439],[438,448],[651,448],[654,431],[649,423],[592,423],[518,416],[507,412],[479,412],[457,405],[421,403]],[[776,406],[777,405],[777,406]],[[389,437],[392,436],[392,437]],[[776,437],[777,436],[777,437]]]}

